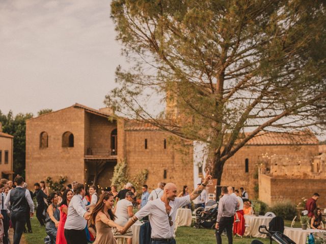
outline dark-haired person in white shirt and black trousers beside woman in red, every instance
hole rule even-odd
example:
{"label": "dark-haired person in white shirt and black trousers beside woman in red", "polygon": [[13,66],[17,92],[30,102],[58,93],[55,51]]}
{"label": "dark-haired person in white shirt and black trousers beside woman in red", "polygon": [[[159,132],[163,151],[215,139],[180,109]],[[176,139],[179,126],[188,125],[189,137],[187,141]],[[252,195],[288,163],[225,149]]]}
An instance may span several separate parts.
{"label": "dark-haired person in white shirt and black trousers beside woman in red", "polygon": [[83,202],[85,196],[85,186],[77,183],[73,187],[73,194],[69,206],[65,223],[65,237],[67,244],[87,244],[85,227],[91,215],[86,210]]}

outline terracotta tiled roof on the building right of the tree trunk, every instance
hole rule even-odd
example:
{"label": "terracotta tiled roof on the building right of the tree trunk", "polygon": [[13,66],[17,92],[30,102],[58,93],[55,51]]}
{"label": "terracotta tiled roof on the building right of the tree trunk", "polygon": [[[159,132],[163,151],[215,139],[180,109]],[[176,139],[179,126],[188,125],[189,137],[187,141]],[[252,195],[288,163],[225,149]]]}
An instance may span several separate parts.
{"label": "terracotta tiled roof on the building right of the tree trunk", "polygon": [[250,139],[246,145],[317,145],[318,139],[311,132],[262,132]]}

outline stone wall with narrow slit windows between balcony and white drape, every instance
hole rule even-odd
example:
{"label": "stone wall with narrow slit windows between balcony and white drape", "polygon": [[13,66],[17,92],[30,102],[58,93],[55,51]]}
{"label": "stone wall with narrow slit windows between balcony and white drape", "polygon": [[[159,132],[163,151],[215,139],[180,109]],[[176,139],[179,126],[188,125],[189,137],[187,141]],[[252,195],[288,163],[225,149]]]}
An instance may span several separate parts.
{"label": "stone wall with narrow slit windows between balcony and white drape", "polygon": [[[169,144],[170,136],[160,131],[125,131],[125,158],[128,173],[134,175],[142,169],[147,169],[146,184],[150,190],[156,188],[160,181],[174,182],[178,191],[182,190],[183,185],[193,189],[193,155],[185,156],[178,153]],[[145,149],[145,139],[147,139],[147,149]],[[164,139],[167,140],[166,149]]]}

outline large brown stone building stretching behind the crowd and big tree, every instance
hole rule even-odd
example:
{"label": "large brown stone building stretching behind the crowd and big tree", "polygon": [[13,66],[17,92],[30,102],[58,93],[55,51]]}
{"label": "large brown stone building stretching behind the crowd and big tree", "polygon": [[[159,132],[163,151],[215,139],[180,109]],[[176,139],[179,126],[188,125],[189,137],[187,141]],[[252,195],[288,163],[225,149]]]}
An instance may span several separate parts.
{"label": "large brown stone building stretching behind the crowd and big tree", "polygon": [[[198,143],[189,146],[187,154],[181,154],[170,143],[171,134],[150,124],[115,120],[111,115],[108,108],[96,110],[75,104],[26,121],[26,180],[33,184],[48,176],[67,175],[69,182],[95,182],[106,187],[111,184],[114,166],[126,160],[130,176],[148,170],[146,184],[150,189],[159,181],[175,182],[180,191],[183,185],[195,187],[204,174],[206,161],[205,154],[197,151]],[[264,177],[259,177],[262,166],[265,171],[279,173],[278,177],[295,178],[300,173],[290,169],[294,165],[281,167],[286,159],[300,159],[300,169],[311,171],[311,162],[318,154],[314,135],[261,134],[226,162],[222,185],[244,187],[250,198],[258,197],[258,193],[260,197],[270,185],[260,180]],[[275,168],[278,162],[281,168]],[[291,193],[282,194],[286,199]],[[311,189],[302,194],[308,197]],[[271,204],[277,199],[267,201]]]}

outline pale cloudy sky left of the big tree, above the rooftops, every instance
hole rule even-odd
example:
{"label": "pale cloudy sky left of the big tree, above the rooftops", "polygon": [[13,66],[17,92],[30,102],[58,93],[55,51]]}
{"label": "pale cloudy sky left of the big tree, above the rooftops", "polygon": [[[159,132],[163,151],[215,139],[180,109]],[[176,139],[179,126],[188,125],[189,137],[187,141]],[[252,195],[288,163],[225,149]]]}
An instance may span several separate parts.
{"label": "pale cloudy sky left of the big tree, above the rooftops", "polygon": [[115,37],[109,0],[2,0],[0,110],[105,107],[128,66]]}

